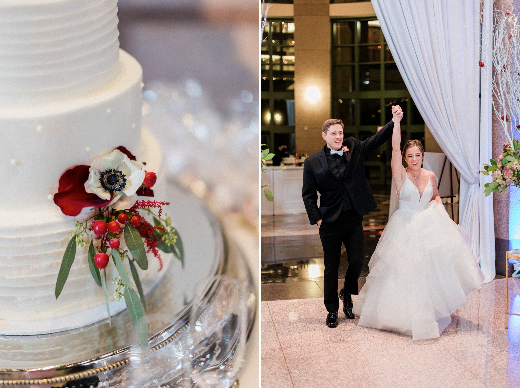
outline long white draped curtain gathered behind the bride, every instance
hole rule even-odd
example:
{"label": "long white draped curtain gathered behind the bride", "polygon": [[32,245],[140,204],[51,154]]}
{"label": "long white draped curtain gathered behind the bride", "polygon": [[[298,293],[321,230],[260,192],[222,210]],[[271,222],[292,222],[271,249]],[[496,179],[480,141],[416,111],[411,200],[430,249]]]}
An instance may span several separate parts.
{"label": "long white draped curtain gathered behind the bride", "polygon": [[[484,0],[489,26],[483,30],[483,47],[492,39],[491,2]],[[492,61],[486,59],[485,69],[478,66],[479,1],[372,0],[372,5],[411,97],[461,173],[459,222],[490,282],[495,277],[493,204],[492,196],[483,194],[489,178],[479,170],[491,158],[490,88],[481,88],[480,78]]]}

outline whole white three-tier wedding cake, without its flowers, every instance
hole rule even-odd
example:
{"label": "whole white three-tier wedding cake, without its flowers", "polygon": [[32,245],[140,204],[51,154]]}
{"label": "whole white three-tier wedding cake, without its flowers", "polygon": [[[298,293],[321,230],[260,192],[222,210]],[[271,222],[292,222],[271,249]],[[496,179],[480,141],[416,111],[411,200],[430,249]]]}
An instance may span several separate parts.
{"label": "whole white three-tier wedding cake, without its flowers", "polygon": [[[141,132],[141,67],[119,48],[117,24],[116,0],[0,0],[0,333],[8,321],[105,304],[88,246],[77,247],[55,296],[81,218],[53,201],[64,171],[124,146],[157,173],[161,197],[160,147]],[[146,272],[157,273],[149,262]]]}

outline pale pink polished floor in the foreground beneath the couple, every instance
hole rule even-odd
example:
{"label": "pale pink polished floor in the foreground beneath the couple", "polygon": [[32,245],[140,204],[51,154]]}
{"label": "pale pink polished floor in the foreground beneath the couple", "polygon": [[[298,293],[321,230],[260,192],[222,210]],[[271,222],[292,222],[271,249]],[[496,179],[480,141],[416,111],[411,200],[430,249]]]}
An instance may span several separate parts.
{"label": "pale pink polished floor in the foreground beneath the couple", "polygon": [[[520,312],[520,282],[509,304]],[[504,307],[501,278],[470,293],[440,338],[413,341],[342,313],[328,328],[321,298],[264,301],[262,387],[517,387],[520,316],[506,330]]]}

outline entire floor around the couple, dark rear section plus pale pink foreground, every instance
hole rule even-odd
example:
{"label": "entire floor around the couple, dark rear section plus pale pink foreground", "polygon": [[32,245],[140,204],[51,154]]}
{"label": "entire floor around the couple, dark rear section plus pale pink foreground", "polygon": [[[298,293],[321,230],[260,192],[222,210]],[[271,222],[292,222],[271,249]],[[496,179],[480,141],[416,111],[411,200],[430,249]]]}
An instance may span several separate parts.
{"label": "entire floor around the couple, dark rear section plus pale pink foreground", "polygon": [[[389,196],[363,218],[368,261],[388,214]],[[440,338],[413,341],[397,333],[324,321],[323,251],[306,215],[262,217],[262,387],[517,387],[520,316],[505,329],[505,279],[469,295]],[[347,267],[342,251],[339,278]],[[510,311],[520,314],[520,280],[511,280]],[[339,282],[342,285],[342,280]],[[355,296],[354,296],[355,298]]]}

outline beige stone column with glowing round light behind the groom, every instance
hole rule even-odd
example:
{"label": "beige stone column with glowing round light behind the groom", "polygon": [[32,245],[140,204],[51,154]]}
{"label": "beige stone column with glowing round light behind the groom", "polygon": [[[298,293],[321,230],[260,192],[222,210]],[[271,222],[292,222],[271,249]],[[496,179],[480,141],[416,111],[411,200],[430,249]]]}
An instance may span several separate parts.
{"label": "beige stone column with glowing round light behind the groom", "polygon": [[[294,112],[296,152],[313,154],[323,147],[321,126],[331,118],[331,28],[329,0],[294,0]],[[320,97],[311,103],[308,88]]]}

